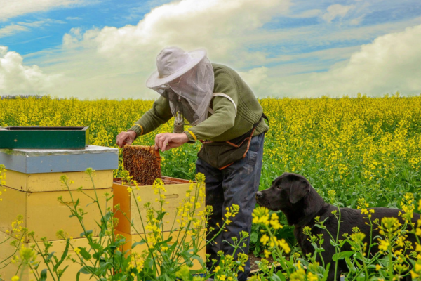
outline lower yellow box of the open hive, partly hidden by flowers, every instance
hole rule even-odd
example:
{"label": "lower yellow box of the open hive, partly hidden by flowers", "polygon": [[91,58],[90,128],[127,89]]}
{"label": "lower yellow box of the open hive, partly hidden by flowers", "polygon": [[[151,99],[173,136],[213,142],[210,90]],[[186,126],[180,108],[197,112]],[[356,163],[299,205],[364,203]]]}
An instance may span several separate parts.
{"label": "lower yellow box of the open hive, partly hidden by flowers", "polygon": [[[175,241],[177,241],[178,233],[179,233],[179,231],[173,232],[173,234],[172,234],[173,239],[171,240],[172,243],[168,244],[168,247],[171,247],[171,245]],[[182,231],[182,235],[184,235],[184,233],[185,232]],[[140,237],[140,235],[138,235],[138,234],[131,235],[131,234],[128,234],[128,233],[122,233],[121,231],[118,231],[118,230],[114,231],[114,234],[115,235],[123,235],[126,238],[127,242],[126,242],[126,244],[124,244],[124,247],[123,247],[122,251],[129,251],[129,252],[132,251],[132,252],[135,252],[135,253],[138,253],[138,254],[142,254],[142,251],[147,250],[147,244],[141,244],[141,245],[138,244],[133,249],[131,249],[132,244],[135,243],[135,242],[140,242],[142,240],[143,235],[142,235],[142,237]],[[205,230],[201,230],[200,236],[206,237],[205,236]],[[170,232],[169,231],[163,232],[163,239],[167,240],[168,237],[170,237]],[[182,237],[180,237],[178,240],[182,240]],[[187,237],[185,239],[185,242],[191,242],[191,241],[192,241],[191,235],[187,235]],[[206,241],[203,240],[201,242],[201,245],[200,245],[200,247],[203,247],[203,249],[201,249],[199,251],[199,253],[197,253],[197,255],[200,256],[200,258],[202,259],[203,262],[206,261],[206,247],[205,246],[206,246]],[[194,260],[193,261],[193,267],[190,268],[190,270],[199,270],[201,268],[202,268],[202,266],[200,265],[199,261]]]}

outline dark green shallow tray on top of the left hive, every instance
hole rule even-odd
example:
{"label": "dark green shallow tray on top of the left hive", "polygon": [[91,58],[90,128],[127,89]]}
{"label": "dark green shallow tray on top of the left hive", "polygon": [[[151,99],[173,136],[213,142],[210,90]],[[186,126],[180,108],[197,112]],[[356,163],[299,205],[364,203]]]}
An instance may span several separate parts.
{"label": "dark green shallow tray on top of the left hive", "polygon": [[0,128],[0,149],[83,149],[87,145],[89,145],[89,127]]}

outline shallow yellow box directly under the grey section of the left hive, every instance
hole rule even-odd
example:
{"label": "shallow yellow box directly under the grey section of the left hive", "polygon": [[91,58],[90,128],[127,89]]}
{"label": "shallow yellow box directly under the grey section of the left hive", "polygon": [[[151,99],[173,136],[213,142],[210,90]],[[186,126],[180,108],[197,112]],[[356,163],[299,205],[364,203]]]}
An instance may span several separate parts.
{"label": "shallow yellow box directly under the grey section of the left hive", "polygon": [[[95,188],[111,188],[112,170],[95,171],[93,182]],[[84,171],[74,171],[68,173],[45,173],[45,174],[24,174],[18,171],[8,170],[6,173],[6,185],[10,188],[28,192],[44,192],[66,190],[65,185],[60,182],[62,175],[74,181],[70,185],[71,190],[83,186],[83,189],[93,189],[91,178]]]}

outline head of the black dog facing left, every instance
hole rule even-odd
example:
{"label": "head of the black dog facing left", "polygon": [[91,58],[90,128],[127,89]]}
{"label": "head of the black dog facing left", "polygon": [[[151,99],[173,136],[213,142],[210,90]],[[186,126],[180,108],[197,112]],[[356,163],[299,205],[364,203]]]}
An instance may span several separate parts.
{"label": "head of the black dog facing left", "polygon": [[283,211],[290,224],[311,216],[324,205],[307,178],[293,173],[283,173],[272,181],[270,188],[256,192],[256,201],[267,209]]}

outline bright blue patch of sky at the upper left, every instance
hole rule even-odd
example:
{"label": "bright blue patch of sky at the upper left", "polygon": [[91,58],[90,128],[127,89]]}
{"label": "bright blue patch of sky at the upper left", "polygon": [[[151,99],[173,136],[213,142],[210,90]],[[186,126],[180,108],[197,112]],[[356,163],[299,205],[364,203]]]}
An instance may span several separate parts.
{"label": "bright blue patch of sky at the upper left", "polygon": [[[60,46],[63,35],[73,27],[90,30],[95,27],[136,25],[151,8],[153,6],[148,1],[104,0],[93,1],[91,4],[87,1],[81,6],[26,13],[1,22],[0,29],[8,25],[25,26],[25,23],[47,22],[39,27],[29,27],[26,31],[1,37],[0,42],[8,46],[9,51],[27,55]],[[48,22],[50,20],[52,22]]]}

